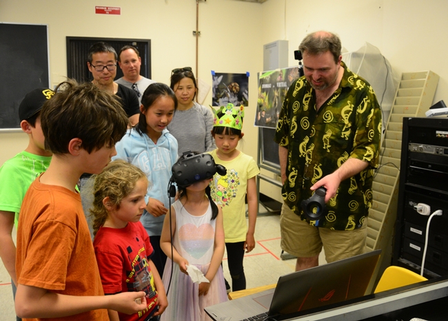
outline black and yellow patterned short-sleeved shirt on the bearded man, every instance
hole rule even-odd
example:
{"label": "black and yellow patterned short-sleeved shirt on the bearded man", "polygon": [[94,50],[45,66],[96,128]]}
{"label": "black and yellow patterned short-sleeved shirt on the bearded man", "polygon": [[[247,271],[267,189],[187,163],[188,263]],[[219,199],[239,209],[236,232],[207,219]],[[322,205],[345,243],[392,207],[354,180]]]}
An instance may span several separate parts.
{"label": "black and yellow patterned short-sleeved shirt on the bearded man", "polygon": [[332,174],[348,158],[369,163],[366,169],[343,180],[336,196],[327,203],[325,219],[310,225],[352,230],[363,225],[372,203],[371,185],[378,167],[381,110],[374,90],[345,63],[338,89],[316,112],[316,94],[305,77],[289,87],[274,141],[287,147],[287,180],[282,188],[285,203],[301,214],[301,201],[309,189]]}

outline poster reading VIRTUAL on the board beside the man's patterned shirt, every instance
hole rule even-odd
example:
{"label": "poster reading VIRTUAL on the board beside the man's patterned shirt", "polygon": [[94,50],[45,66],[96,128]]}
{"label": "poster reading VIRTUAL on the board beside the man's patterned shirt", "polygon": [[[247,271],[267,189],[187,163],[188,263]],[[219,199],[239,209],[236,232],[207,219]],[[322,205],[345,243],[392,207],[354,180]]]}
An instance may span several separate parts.
{"label": "poster reading VIRTUAL on the board beside the man's patterned shirt", "polygon": [[256,126],[276,128],[283,99],[289,86],[296,79],[298,79],[298,67],[258,73]]}

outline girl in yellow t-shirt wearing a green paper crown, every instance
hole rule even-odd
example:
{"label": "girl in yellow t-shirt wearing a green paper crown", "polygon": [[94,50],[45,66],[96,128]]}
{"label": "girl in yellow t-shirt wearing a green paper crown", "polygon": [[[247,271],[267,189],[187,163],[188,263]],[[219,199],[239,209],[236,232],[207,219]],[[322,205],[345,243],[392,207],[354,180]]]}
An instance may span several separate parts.
{"label": "girl in yellow t-shirt wearing a green paper crown", "polygon": [[[231,103],[214,110],[213,137],[218,147],[210,154],[217,164],[227,168],[225,176],[214,176],[212,197],[223,208],[227,264],[232,277],[232,291],[246,288],[244,253],[255,247],[255,222],[258,213],[256,176],[260,173],[254,158],[236,149],[243,138],[244,106]],[[249,226],[245,216],[245,196]]]}

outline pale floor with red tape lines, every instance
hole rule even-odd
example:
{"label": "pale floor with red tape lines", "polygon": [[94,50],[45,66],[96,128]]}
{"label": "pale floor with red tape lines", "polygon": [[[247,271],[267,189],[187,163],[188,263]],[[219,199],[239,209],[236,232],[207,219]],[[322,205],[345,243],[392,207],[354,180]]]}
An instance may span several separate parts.
{"label": "pale floor with red tape lines", "polygon": [[[264,208],[260,208],[260,212],[256,222],[256,247],[244,258],[247,289],[276,283],[279,276],[293,272],[296,265],[296,260],[282,260],[280,257],[280,216],[266,213]],[[320,264],[325,263],[323,253],[319,261]],[[230,281],[226,253],[223,270],[225,278]],[[0,315],[2,321],[15,320],[11,280],[2,262],[0,262]]]}

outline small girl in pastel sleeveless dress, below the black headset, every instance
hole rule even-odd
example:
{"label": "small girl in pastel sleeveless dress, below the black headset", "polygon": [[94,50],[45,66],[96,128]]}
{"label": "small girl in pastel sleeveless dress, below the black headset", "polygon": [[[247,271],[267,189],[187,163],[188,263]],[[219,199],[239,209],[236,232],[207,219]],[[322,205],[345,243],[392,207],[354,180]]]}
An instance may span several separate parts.
{"label": "small girl in pastel sleeveless dress, below the black headset", "polygon": [[[167,294],[170,305],[161,321],[211,320],[204,308],[227,301],[221,267],[223,214],[210,195],[211,180],[198,180],[186,187],[178,184],[179,199],[171,207],[171,222],[170,216],[165,216],[161,248],[168,260],[162,280],[165,287],[171,284]],[[189,265],[198,268],[207,280],[194,283],[187,274]]]}

